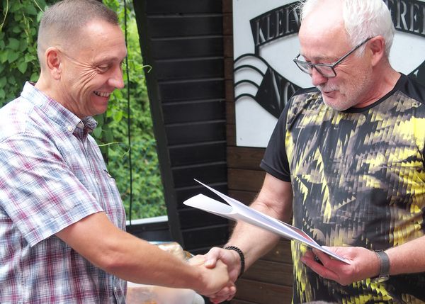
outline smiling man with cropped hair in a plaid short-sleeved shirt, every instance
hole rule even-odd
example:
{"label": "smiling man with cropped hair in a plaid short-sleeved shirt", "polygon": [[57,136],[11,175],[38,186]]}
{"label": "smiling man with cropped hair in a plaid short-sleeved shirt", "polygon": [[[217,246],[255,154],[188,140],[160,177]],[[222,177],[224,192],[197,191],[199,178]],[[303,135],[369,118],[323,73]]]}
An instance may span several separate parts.
{"label": "smiling man with cropped hair in a plaid short-sleeved shirt", "polygon": [[0,110],[0,303],[125,303],[124,280],[234,292],[227,267],[190,265],[125,232],[90,133],[124,86],[116,14],[64,0],[40,23],[37,83]]}

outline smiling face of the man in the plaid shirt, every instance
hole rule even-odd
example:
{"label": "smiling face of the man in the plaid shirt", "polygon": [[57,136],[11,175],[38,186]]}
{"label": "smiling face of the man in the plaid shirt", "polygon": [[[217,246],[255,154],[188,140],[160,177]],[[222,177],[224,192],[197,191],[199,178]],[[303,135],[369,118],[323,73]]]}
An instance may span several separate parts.
{"label": "smiling face of the man in the plaid shirt", "polygon": [[104,113],[113,90],[124,87],[121,64],[127,50],[120,27],[106,21],[91,21],[78,37],[58,52],[55,99],[84,118]]}

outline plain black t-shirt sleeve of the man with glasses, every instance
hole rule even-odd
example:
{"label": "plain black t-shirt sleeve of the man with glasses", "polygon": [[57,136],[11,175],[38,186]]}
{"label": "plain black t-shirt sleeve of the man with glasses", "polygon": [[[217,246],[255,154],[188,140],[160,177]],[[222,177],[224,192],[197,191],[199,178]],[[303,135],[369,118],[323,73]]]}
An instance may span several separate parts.
{"label": "plain black t-shirt sleeve of the man with glasses", "polygon": [[290,181],[290,169],[285,150],[286,117],[289,105],[290,103],[280,114],[260,164],[261,169],[282,181]]}

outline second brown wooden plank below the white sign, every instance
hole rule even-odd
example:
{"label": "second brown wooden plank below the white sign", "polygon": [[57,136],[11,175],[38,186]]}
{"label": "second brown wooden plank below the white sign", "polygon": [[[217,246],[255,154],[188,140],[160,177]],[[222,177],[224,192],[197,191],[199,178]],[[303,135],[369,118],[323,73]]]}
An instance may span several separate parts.
{"label": "second brown wooden plank below the white sign", "polygon": [[259,191],[263,186],[264,171],[229,169],[227,182],[229,189],[244,191]]}

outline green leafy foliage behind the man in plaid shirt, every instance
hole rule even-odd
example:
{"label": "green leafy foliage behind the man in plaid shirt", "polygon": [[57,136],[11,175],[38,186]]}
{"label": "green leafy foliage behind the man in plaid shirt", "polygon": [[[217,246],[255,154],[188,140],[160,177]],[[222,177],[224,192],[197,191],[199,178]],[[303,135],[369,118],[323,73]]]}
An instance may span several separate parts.
{"label": "green leafy foliage behind the man in plaid shirt", "polygon": [[[0,106],[16,98],[25,81],[37,81],[40,72],[37,58],[38,23],[46,7],[55,2],[0,0]],[[129,77],[124,72],[125,89],[115,90],[108,111],[95,117],[98,127],[93,135],[101,147],[108,170],[117,182],[128,217],[130,190],[133,220],[166,215],[135,13],[131,1],[126,1],[127,10],[124,0],[103,0],[103,4],[118,13],[123,30],[127,11]]]}

